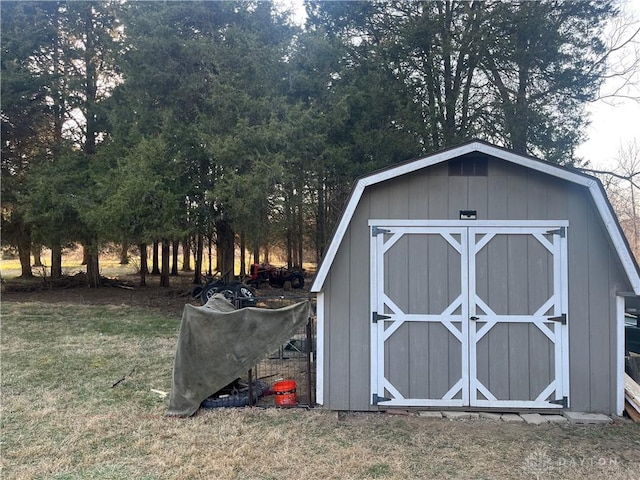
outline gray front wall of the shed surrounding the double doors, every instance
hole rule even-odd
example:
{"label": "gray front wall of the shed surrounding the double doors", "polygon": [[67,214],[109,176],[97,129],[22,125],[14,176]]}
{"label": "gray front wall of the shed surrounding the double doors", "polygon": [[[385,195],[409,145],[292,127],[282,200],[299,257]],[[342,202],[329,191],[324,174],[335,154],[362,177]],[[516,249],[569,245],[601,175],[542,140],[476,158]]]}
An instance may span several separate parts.
{"label": "gray front wall of the shed surrounding the double doors", "polygon": [[[442,163],[368,187],[326,278],[324,406],[370,405],[368,220],[568,220],[571,410],[616,411],[615,292],[630,290],[589,192],[500,159],[486,177],[450,177]],[[472,223],[472,222],[470,222]]]}

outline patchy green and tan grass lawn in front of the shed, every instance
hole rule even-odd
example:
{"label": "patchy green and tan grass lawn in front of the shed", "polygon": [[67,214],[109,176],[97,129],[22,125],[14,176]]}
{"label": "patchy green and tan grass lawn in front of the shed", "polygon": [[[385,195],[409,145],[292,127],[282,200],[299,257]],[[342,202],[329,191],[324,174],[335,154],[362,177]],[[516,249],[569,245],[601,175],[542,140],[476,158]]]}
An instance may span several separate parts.
{"label": "patchy green and tan grass lawn in front of the shed", "polygon": [[[3,302],[3,479],[640,478],[640,428],[301,409],[164,416],[179,318]],[[124,378],[123,381],[118,382]],[[116,384],[113,386],[114,384]]]}

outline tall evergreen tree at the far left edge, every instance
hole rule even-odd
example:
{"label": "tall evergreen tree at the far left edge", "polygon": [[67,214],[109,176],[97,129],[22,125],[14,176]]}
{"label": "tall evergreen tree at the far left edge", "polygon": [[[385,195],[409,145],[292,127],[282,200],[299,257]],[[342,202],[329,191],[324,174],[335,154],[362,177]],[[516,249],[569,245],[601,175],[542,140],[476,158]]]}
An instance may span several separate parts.
{"label": "tall evergreen tree at the far left edge", "polygon": [[2,242],[17,247],[22,277],[31,277],[34,225],[22,199],[29,175],[52,140],[51,72],[36,69],[37,52],[51,38],[56,4],[2,2]]}

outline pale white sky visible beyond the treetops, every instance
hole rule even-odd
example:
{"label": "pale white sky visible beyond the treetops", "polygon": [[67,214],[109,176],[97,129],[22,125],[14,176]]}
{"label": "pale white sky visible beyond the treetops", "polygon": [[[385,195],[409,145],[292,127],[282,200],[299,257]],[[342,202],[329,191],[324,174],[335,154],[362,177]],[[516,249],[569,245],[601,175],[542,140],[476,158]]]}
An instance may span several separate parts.
{"label": "pale white sky visible beyond the treetops", "polygon": [[[296,12],[296,21],[304,23],[305,13],[302,0],[276,0],[285,8]],[[623,8],[631,20],[640,22],[640,0],[621,0]],[[638,28],[636,23],[634,28]],[[633,31],[633,30],[632,30]],[[640,35],[639,35],[640,36]],[[640,55],[640,38],[622,54],[622,60]],[[640,72],[636,74],[638,84],[629,93],[637,100],[617,98],[615,100],[597,100],[587,105],[590,125],[585,131],[586,141],[580,145],[576,155],[589,161],[594,169],[613,170],[621,146],[628,146],[633,140],[640,143]],[[616,88],[615,80],[605,82],[601,92],[607,94]]]}

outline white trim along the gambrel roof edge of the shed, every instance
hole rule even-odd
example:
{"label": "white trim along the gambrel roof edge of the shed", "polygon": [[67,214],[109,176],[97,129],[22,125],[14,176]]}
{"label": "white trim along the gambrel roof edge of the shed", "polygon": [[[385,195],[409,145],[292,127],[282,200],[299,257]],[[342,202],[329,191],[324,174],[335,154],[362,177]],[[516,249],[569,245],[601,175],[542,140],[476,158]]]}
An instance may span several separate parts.
{"label": "white trim along the gambrel roof edge of the shed", "polygon": [[428,157],[407,162],[402,165],[398,165],[395,168],[389,168],[360,178],[353,188],[349,202],[347,203],[342,218],[340,219],[340,223],[338,224],[335,234],[329,243],[329,247],[327,248],[322,263],[320,264],[318,273],[311,285],[311,291],[322,291],[322,287],[327,275],[329,274],[331,264],[338,253],[338,247],[342,243],[342,239],[349,227],[351,218],[353,217],[356,207],[362,198],[365,188],[472,152],[484,153],[588,188],[591,193],[591,197],[596,204],[598,213],[600,214],[605,228],[609,233],[611,242],[616,249],[620,262],[627,274],[627,278],[629,279],[635,294],[640,295],[640,274],[638,274],[631,252],[627,248],[627,244],[622,237],[622,232],[620,231],[614,214],[609,207],[609,203],[604,197],[603,191],[600,189],[599,182],[595,178],[585,174],[574,173],[551,163],[522,156],[483,142],[470,142],[465,145],[461,145],[460,147],[429,155]]}

